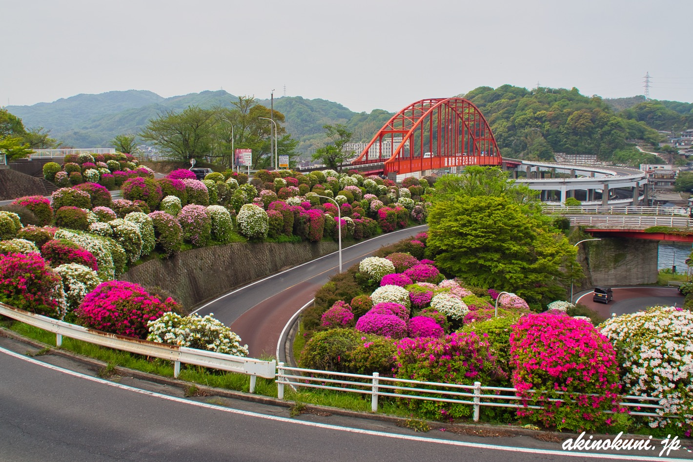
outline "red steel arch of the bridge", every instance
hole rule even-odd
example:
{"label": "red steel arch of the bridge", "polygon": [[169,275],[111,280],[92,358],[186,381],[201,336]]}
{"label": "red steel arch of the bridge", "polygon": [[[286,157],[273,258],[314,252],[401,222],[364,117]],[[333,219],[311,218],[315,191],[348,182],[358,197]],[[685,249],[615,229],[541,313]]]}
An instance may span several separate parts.
{"label": "red steel arch of the bridge", "polygon": [[[384,162],[384,163],[383,163]],[[383,173],[502,164],[481,111],[464,98],[430,98],[403,108],[380,128],[353,165],[383,163]]]}

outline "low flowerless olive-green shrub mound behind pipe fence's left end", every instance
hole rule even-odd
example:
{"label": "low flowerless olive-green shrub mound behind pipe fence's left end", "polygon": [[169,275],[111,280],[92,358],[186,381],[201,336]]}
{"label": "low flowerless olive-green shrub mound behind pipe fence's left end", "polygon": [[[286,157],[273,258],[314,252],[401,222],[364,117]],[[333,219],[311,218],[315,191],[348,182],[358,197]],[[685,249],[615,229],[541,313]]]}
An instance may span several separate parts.
{"label": "low flowerless olive-green shrub mound behind pipe fence's left end", "polygon": [[392,375],[396,352],[392,339],[353,329],[317,332],[301,352],[301,367],[351,374]]}

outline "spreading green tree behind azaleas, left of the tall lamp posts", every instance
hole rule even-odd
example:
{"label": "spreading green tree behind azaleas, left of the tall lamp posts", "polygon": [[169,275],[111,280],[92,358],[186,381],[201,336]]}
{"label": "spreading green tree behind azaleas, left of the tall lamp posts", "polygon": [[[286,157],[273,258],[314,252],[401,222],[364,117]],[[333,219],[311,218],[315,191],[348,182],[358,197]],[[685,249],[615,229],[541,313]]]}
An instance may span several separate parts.
{"label": "spreading green tree behind azaleas, left of the tall lamp posts", "polygon": [[188,162],[201,159],[211,150],[211,131],[216,112],[188,106],[183,112],[169,110],[150,119],[140,134],[154,142],[171,159]]}

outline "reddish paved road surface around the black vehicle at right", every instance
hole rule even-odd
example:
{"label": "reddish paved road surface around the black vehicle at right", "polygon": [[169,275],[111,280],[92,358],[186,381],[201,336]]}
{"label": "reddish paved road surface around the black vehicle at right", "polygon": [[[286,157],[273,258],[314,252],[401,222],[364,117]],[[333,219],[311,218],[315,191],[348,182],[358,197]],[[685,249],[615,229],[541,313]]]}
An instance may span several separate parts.
{"label": "reddish paved road surface around the black vehicle at right", "polygon": [[[671,287],[628,287],[613,289],[613,300],[608,304],[593,302],[593,292],[586,293],[579,298],[582,305],[586,305],[597,311],[605,318],[610,318],[612,313],[633,313],[638,309],[652,305],[683,305],[683,296],[678,290]],[[662,300],[656,300],[662,298]]]}

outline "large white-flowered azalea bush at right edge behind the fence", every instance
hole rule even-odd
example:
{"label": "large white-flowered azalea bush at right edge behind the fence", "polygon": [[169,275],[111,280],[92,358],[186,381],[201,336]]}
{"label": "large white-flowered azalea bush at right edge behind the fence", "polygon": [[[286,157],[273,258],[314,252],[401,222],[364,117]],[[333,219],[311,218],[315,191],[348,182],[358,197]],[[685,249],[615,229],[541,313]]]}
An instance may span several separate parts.
{"label": "large white-flowered azalea bush at right edge behind the fence", "polygon": [[[651,307],[600,324],[613,343],[624,377],[624,395],[658,397],[664,407],[650,427],[693,425],[693,313]],[[671,416],[678,415],[675,419]]]}

